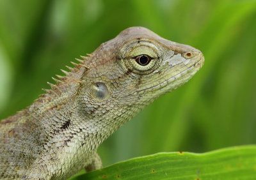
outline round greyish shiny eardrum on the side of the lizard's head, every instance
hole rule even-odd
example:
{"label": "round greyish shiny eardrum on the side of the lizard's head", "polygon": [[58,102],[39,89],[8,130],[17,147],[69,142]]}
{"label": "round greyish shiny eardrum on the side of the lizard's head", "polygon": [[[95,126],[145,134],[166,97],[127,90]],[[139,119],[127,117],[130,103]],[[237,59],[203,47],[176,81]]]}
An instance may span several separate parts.
{"label": "round greyish shiny eardrum on the side of the lizard's head", "polygon": [[109,91],[106,84],[103,82],[96,82],[92,84],[92,96],[96,100],[105,100],[108,98]]}

